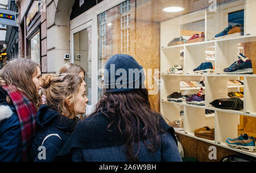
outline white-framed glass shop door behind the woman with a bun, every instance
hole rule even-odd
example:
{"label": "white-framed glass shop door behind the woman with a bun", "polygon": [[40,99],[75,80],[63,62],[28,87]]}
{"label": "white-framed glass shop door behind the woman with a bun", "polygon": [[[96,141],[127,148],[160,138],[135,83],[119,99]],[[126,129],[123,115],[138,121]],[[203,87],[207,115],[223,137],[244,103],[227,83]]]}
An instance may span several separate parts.
{"label": "white-framed glass shop door behind the woman with a bun", "polygon": [[86,115],[92,112],[92,27],[73,33],[73,63],[85,70],[85,91],[89,99]]}

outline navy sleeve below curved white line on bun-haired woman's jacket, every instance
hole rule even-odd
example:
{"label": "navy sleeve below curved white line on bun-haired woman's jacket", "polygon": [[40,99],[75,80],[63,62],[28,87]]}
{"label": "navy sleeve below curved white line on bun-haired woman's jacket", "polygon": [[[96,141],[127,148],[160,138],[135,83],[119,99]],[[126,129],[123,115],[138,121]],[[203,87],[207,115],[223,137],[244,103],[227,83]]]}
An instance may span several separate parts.
{"label": "navy sleeve below curved white line on bun-haired woman's jacket", "polygon": [[50,136],[38,148],[35,162],[53,162],[57,153],[63,146],[63,141],[57,136]]}

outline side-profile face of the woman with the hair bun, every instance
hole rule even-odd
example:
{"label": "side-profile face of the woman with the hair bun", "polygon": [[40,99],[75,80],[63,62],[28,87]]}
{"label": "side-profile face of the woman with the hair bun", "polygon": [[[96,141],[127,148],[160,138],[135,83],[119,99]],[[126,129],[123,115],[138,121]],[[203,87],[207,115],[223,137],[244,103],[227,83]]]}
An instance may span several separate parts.
{"label": "side-profile face of the woman with the hair bun", "polygon": [[75,104],[75,111],[77,114],[82,114],[85,113],[85,107],[86,103],[89,102],[89,99],[86,97],[86,92],[85,92],[85,83],[81,83],[79,87],[79,91],[77,92],[77,97],[76,97],[76,104]]}

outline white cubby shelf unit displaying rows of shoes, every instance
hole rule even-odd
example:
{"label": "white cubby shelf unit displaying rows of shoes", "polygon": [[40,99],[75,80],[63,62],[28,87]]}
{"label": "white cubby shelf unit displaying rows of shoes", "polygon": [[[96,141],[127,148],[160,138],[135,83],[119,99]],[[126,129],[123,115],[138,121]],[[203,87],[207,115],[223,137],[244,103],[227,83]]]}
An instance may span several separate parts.
{"label": "white cubby shelf unit displaying rows of shoes", "polygon": [[[256,157],[256,152],[234,149],[226,145],[226,138],[238,136],[238,124],[240,115],[256,117],[256,74],[225,74],[224,69],[237,61],[238,52],[243,49],[243,43],[256,41],[256,1],[232,1],[217,6],[217,12],[199,10],[179,16],[174,19],[165,20],[160,23],[160,113],[168,120],[180,119],[180,110],[184,111],[184,130],[176,133],[184,134],[198,140],[209,142],[226,149],[234,150],[243,154]],[[244,10],[244,34],[241,36],[213,39],[214,35],[228,26],[228,14],[233,11]],[[204,20],[205,41],[174,45],[167,47],[168,41],[179,37],[181,28],[187,23]],[[200,27],[199,27],[200,28]],[[201,27],[202,28],[202,27]],[[201,32],[201,31],[200,31]],[[184,58],[180,58],[180,52],[184,51]],[[205,52],[212,51],[214,59],[205,57]],[[247,57],[250,59],[250,57]],[[212,62],[213,74],[195,74],[193,69],[202,62]],[[175,64],[184,67],[183,74],[168,74],[167,69]],[[255,73],[256,71],[254,71]],[[243,85],[228,86],[229,80],[240,80],[243,77]],[[205,81],[204,94],[205,105],[197,106],[185,102],[169,102],[167,96],[173,92],[185,94],[196,94],[200,87],[180,87],[181,81]],[[215,99],[228,98],[228,92],[240,91],[243,88],[243,109],[220,109],[210,105]],[[214,110],[213,116],[207,116],[205,109]],[[196,137],[195,129],[209,126],[214,128],[214,140]]]}

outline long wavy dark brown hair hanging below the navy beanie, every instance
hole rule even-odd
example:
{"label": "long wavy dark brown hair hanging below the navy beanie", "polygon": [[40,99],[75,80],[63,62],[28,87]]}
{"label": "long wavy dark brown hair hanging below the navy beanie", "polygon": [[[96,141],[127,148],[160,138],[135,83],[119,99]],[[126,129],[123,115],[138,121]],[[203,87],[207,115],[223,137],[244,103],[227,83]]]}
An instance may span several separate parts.
{"label": "long wavy dark brown hair hanging below the navy beanie", "polygon": [[[139,141],[143,141],[147,149],[152,152],[159,148],[158,134],[159,130],[163,130],[159,126],[159,113],[151,109],[147,89],[105,93],[91,115],[97,113],[103,113],[110,119],[108,128],[113,123],[118,123],[118,129],[126,141],[127,158],[131,161],[138,161]],[[134,153],[135,142],[139,145],[137,153]]]}

